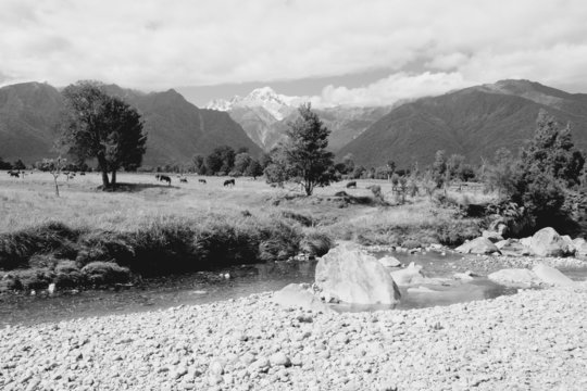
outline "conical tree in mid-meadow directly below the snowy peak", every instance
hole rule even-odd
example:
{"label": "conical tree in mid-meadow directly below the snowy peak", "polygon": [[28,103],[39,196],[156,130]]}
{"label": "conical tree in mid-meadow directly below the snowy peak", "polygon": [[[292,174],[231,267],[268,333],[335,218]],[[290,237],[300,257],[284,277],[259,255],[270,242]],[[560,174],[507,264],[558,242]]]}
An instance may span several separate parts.
{"label": "conical tree in mid-meadow directly below the snowy peak", "polygon": [[287,141],[283,144],[288,180],[300,184],[307,195],[316,186],[326,186],[334,178],[333,153],[326,151],[330,130],[324,126],[311,104],[302,104],[299,117],[288,124]]}

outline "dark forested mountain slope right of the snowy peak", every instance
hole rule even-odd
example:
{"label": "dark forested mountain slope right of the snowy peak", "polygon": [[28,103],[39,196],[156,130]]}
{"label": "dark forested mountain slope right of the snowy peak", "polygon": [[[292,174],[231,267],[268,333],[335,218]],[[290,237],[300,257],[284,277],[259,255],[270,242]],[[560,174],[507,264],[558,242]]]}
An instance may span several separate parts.
{"label": "dark forested mountain slope right of the snowy peak", "polygon": [[575,143],[587,147],[587,100],[526,80],[502,80],[403,104],[339,151],[355,163],[408,167],[430,164],[437,150],[480,163],[501,147],[517,151],[532,138],[540,109],[571,124]]}

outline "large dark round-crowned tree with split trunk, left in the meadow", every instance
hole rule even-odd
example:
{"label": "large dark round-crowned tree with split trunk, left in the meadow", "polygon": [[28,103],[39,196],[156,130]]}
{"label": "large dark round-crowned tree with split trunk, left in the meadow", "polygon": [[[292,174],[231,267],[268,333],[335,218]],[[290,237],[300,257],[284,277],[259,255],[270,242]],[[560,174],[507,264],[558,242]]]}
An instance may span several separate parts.
{"label": "large dark round-crowned tree with split trunk, left in the meadow", "polygon": [[61,146],[78,161],[95,157],[104,189],[115,187],[117,171],[135,171],[142,162],[147,135],[140,114],[95,81],[70,85],[63,97],[66,111],[60,124]]}

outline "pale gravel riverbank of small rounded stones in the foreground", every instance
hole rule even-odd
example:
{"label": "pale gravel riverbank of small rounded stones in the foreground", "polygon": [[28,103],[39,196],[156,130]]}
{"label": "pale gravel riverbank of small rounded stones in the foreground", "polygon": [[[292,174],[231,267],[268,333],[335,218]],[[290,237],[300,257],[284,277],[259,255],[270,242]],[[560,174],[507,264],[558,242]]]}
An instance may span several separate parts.
{"label": "pale gravel riverbank of small rounded stones in the foreground", "polygon": [[9,390],[585,390],[587,282],[310,313],[272,293],[0,330]]}

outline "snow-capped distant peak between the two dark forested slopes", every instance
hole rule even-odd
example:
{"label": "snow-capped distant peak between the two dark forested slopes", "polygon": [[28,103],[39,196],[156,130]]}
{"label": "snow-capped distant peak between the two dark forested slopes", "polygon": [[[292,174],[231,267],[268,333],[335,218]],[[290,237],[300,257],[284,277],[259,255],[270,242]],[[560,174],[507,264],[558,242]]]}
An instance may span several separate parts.
{"label": "snow-capped distant peak between the two dark forested slopes", "polygon": [[[271,87],[263,87],[252,90],[246,97],[212,100],[207,109],[227,112],[242,126],[251,140],[268,151],[285,139],[288,123],[297,117],[297,108],[309,100],[309,97],[288,97],[275,92]],[[332,130],[329,148],[337,151],[387,114],[391,106],[313,110]]]}

